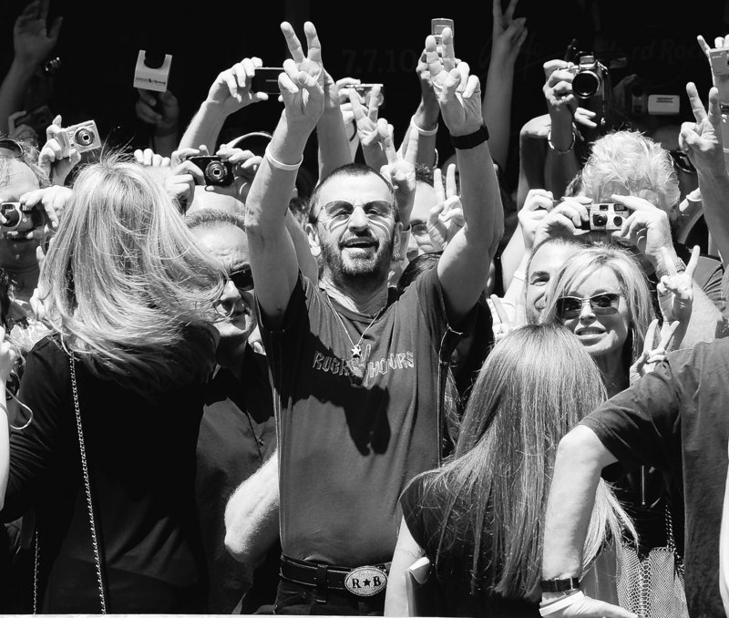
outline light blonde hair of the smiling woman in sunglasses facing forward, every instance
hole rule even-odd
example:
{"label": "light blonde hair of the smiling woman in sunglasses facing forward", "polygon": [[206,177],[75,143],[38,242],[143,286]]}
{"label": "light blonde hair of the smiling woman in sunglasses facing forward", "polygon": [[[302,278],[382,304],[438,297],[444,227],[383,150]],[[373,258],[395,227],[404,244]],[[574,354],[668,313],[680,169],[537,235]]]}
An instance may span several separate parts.
{"label": "light blonde hair of the smiling woman in sunglasses facing forward", "polygon": [[638,261],[626,250],[612,244],[598,243],[573,253],[549,282],[542,322],[559,321],[557,300],[567,295],[570,286],[601,268],[608,268],[620,285],[628,307],[629,335],[623,349],[623,363],[631,366],[642,354],[645,333],[655,317],[648,280]]}

